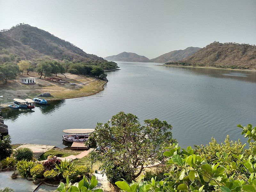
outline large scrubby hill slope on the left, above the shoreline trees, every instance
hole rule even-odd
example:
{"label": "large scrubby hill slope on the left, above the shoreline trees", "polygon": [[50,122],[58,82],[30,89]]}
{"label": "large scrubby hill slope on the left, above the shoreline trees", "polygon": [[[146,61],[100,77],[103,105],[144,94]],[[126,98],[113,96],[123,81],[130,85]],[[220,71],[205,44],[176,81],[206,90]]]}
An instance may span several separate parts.
{"label": "large scrubby hill slope on the left, above the shoreline trees", "polygon": [[24,60],[67,59],[74,62],[100,60],[102,57],[88,54],[75,45],[47,31],[28,24],[16,25],[0,32],[0,61],[4,55],[19,55]]}

